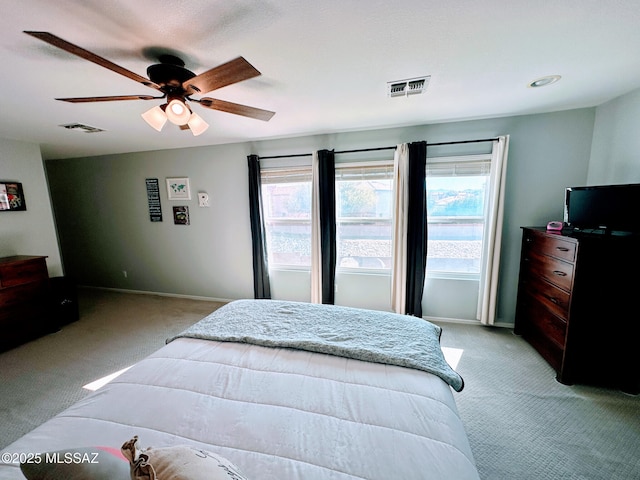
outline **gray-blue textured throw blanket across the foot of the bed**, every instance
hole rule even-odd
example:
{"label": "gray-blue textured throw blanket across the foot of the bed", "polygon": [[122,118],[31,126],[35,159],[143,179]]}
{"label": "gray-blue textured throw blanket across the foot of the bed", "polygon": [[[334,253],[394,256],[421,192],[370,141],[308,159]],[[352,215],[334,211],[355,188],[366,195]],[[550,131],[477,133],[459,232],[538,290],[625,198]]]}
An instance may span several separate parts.
{"label": "gray-blue textured throw blanket across the foot of the bed", "polygon": [[179,337],[287,347],[424,370],[455,391],[462,377],[440,348],[442,329],[421,318],[335,305],[278,300],[236,300]]}

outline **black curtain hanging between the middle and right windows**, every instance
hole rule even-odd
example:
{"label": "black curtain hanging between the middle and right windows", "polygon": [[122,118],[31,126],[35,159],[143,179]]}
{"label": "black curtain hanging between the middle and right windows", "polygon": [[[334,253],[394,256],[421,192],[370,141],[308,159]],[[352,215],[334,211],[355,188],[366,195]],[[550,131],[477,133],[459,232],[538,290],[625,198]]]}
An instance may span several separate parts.
{"label": "black curtain hanging between the middle and right windows", "polygon": [[407,315],[422,316],[427,271],[427,142],[409,144],[409,205],[407,207]]}

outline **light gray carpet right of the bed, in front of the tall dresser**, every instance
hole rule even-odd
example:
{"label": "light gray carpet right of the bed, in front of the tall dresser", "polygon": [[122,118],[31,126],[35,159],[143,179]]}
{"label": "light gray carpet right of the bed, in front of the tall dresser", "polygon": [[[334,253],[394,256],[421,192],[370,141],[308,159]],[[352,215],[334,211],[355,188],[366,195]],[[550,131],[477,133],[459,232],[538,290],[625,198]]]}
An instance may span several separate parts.
{"label": "light gray carpet right of the bed, in front of the tall dresser", "polygon": [[464,349],[455,399],[483,479],[640,479],[640,396],[558,383],[511,330],[441,326]]}

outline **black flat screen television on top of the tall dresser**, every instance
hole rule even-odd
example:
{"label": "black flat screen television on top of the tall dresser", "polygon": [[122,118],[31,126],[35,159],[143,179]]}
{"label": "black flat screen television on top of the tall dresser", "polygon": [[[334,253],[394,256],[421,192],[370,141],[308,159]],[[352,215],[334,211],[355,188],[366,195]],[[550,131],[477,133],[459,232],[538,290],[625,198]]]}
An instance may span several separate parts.
{"label": "black flat screen television on top of the tall dresser", "polygon": [[595,233],[640,233],[640,183],[569,187],[565,224]]}

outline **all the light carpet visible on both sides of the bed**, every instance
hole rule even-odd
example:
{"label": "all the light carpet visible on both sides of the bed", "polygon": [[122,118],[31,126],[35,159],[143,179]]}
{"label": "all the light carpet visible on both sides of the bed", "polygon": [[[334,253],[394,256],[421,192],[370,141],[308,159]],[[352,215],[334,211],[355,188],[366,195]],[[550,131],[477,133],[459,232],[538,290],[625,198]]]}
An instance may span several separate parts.
{"label": "all the light carpet visible on both sides of the bed", "polygon": [[[78,322],[0,354],[0,448],[221,305],[90,289],[79,303]],[[441,326],[463,350],[454,398],[483,480],[640,478],[640,397],[557,383],[510,330]]]}

